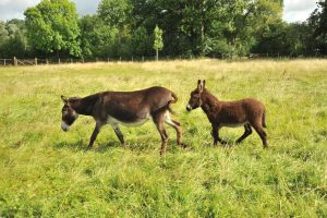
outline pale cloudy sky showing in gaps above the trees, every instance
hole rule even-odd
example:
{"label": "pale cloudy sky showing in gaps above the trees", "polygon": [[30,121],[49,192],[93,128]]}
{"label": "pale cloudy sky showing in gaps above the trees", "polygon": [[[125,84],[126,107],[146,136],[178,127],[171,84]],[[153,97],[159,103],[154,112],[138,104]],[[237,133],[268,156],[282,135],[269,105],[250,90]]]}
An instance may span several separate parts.
{"label": "pale cloudy sky showing in gaps above the trees", "polygon": [[[72,0],[80,14],[95,13],[100,0]],[[283,20],[287,22],[305,21],[316,8],[317,0],[284,0]],[[0,20],[24,19],[24,11],[40,0],[0,0]]]}

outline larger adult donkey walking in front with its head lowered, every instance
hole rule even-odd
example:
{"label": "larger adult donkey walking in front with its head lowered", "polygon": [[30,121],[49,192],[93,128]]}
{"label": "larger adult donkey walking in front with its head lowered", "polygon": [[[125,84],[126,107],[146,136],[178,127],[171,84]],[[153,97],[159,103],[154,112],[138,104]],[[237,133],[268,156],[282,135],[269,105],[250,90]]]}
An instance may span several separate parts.
{"label": "larger adult donkey walking in front with its head lowered", "polygon": [[161,136],[160,155],[166,153],[168,135],[165,122],[177,131],[177,143],[184,147],[181,141],[181,125],[170,118],[170,104],[177,102],[177,96],[165,87],[150,87],[135,92],[102,92],[84,98],[61,96],[63,101],[61,129],[69,131],[78,114],[92,116],[96,126],[89,140],[92,148],[100,129],[110,124],[121,144],[124,144],[119,124],[126,126],[142,125],[153,120]]}

